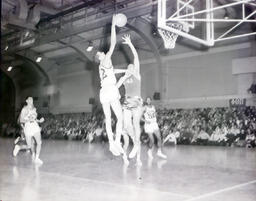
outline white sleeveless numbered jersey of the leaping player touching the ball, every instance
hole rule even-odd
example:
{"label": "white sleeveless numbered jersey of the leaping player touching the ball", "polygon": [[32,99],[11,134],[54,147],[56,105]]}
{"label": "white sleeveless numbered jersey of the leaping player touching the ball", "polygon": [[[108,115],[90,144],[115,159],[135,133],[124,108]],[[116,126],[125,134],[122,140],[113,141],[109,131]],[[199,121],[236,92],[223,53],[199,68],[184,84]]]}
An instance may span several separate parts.
{"label": "white sleeveless numbered jersey of the leaping player touching the ball", "polygon": [[112,65],[109,68],[100,65],[99,74],[101,87],[116,84],[116,76]]}

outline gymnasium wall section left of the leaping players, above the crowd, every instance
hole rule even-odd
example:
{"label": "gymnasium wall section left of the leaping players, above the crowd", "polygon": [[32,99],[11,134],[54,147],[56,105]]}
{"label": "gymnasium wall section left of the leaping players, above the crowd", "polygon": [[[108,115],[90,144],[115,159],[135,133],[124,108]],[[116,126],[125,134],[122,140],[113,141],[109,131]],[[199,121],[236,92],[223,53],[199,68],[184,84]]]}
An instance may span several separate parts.
{"label": "gymnasium wall section left of the leaping players, above the crowd", "polygon": [[84,63],[63,65],[58,69],[57,93],[52,113],[90,112],[89,99],[94,97],[93,71]]}

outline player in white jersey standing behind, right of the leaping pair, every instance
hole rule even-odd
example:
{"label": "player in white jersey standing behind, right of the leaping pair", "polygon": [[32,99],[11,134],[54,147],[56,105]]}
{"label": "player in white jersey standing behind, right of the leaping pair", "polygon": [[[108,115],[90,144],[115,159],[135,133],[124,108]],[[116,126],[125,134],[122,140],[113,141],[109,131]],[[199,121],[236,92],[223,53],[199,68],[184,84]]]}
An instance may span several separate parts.
{"label": "player in white jersey standing behind, right of the leaping pair", "polygon": [[149,159],[153,159],[152,155],[152,150],[154,146],[154,135],[157,138],[157,156],[160,158],[166,159],[166,155],[162,153],[162,138],[161,138],[161,133],[160,129],[157,124],[157,119],[156,119],[156,109],[155,106],[151,104],[151,99],[148,97],[146,99],[146,105],[144,107],[144,130],[145,133],[148,134],[149,137],[149,150],[148,150],[148,157]]}

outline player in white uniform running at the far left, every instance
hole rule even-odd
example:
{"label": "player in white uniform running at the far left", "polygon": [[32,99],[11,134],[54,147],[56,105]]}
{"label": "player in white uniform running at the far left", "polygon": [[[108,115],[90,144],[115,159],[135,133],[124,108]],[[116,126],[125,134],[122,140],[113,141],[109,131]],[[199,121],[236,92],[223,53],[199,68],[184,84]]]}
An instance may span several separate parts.
{"label": "player in white uniform running at the far left", "polygon": [[[27,145],[23,145],[24,149],[31,149],[32,151],[32,159],[37,164],[43,164],[43,161],[39,159],[40,151],[41,151],[41,128],[38,125],[39,123],[44,122],[44,118],[41,118],[40,120],[37,119],[37,112],[36,108],[33,104],[33,98],[28,97],[26,99],[27,105],[25,105],[20,113],[20,123],[24,124],[24,135],[26,138]],[[36,142],[36,150],[33,150],[32,146],[32,139]],[[20,150],[21,147],[19,145],[15,145],[14,148],[14,155],[16,153],[16,150]]]}

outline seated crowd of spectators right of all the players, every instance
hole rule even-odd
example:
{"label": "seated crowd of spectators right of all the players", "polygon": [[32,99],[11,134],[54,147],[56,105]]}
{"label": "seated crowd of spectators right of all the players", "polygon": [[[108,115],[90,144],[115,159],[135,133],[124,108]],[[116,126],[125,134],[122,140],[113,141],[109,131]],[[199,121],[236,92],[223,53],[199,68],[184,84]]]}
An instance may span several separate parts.
{"label": "seated crowd of spectators right of all the players", "polygon": [[256,108],[158,110],[164,143],[255,147]]}

